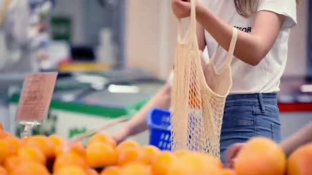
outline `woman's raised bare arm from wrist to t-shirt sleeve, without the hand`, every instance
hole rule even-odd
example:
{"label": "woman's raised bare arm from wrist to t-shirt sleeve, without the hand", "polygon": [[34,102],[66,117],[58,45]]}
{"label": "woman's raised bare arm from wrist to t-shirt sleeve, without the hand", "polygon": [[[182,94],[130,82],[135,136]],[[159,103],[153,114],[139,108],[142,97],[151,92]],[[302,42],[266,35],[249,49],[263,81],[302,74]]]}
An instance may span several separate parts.
{"label": "woman's raised bare arm from wrist to t-shirt sleeve, without the hand", "polygon": [[[265,21],[265,23],[271,23],[273,21],[283,21],[279,20],[280,18],[278,15],[274,15],[272,12],[265,12],[260,14],[260,16],[258,14],[257,18],[259,19],[256,20],[255,26],[253,26],[251,33],[239,31],[234,55],[242,61],[251,65],[257,65],[262,60],[262,58],[265,57],[265,55],[269,52],[270,48],[274,44],[274,41],[278,36],[278,32],[280,30],[281,24],[275,24],[275,26],[277,26],[277,29],[274,28],[274,30],[271,30],[268,34],[263,33],[263,31],[261,30],[265,27],[258,26],[264,23],[263,20],[265,16],[277,17],[276,20]],[[222,48],[228,50],[229,43],[232,37],[233,26],[225,23],[221,18],[212,14],[212,12],[204,6],[199,6],[197,8],[197,20],[203,26],[203,28],[208,33],[210,33],[210,35],[219,43]],[[263,30],[266,31],[269,29],[265,28]]]}

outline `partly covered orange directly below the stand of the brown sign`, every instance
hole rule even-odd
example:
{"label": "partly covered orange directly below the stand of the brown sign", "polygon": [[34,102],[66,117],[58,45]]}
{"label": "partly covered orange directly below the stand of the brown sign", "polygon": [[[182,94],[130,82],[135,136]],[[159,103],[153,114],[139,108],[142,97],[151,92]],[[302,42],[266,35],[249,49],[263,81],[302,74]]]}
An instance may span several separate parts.
{"label": "partly covered orange directly below the stand of the brown sign", "polygon": [[47,159],[54,157],[54,144],[46,136],[31,136],[24,140],[24,144],[27,147],[39,148]]}

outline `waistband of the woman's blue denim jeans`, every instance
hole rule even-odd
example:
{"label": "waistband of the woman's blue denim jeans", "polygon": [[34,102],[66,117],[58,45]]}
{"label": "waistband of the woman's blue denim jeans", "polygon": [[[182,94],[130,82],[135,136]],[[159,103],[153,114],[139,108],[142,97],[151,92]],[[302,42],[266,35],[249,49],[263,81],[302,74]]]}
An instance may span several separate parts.
{"label": "waistband of the woman's blue denim jeans", "polygon": [[229,95],[225,105],[263,105],[277,104],[277,94],[237,94]]}

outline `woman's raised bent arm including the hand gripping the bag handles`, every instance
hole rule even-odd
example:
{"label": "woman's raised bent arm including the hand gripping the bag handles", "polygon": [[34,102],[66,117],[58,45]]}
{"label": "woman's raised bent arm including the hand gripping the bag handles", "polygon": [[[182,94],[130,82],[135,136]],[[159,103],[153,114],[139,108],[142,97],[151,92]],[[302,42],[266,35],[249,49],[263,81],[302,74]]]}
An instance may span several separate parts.
{"label": "woman's raised bent arm including the hand gripping the bag handles", "polygon": [[[173,12],[178,18],[190,15],[189,0],[171,1]],[[233,26],[213,15],[199,1],[197,2],[197,20],[221,47],[228,50]],[[274,45],[284,20],[285,16],[274,12],[258,12],[251,33],[239,31],[234,55],[248,64],[259,64]]]}

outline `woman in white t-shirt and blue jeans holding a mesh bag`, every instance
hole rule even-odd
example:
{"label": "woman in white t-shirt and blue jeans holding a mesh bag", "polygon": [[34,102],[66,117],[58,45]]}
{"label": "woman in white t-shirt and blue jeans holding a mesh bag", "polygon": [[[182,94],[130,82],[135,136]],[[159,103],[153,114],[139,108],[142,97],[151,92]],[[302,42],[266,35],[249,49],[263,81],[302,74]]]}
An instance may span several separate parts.
{"label": "woman in white t-shirt and blue jeans holding a mesh bag", "polygon": [[[178,18],[190,16],[189,0],[171,0]],[[298,3],[298,2],[297,2]],[[226,99],[221,130],[221,160],[233,143],[253,136],[280,141],[277,92],[287,59],[290,29],[297,23],[296,0],[203,0],[197,1],[197,37],[201,50],[215,53],[217,71],[223,67],[232,27],[240,29],[231,63],[232,89]],[[220,47],[219,47],[220,46]],[[170,85],[165,87],[115,137],[146,128],[149,107],[168,107]],[[161,96],[164,97],[161,97]],[[160,98],[163,101],[161,101]]]}

